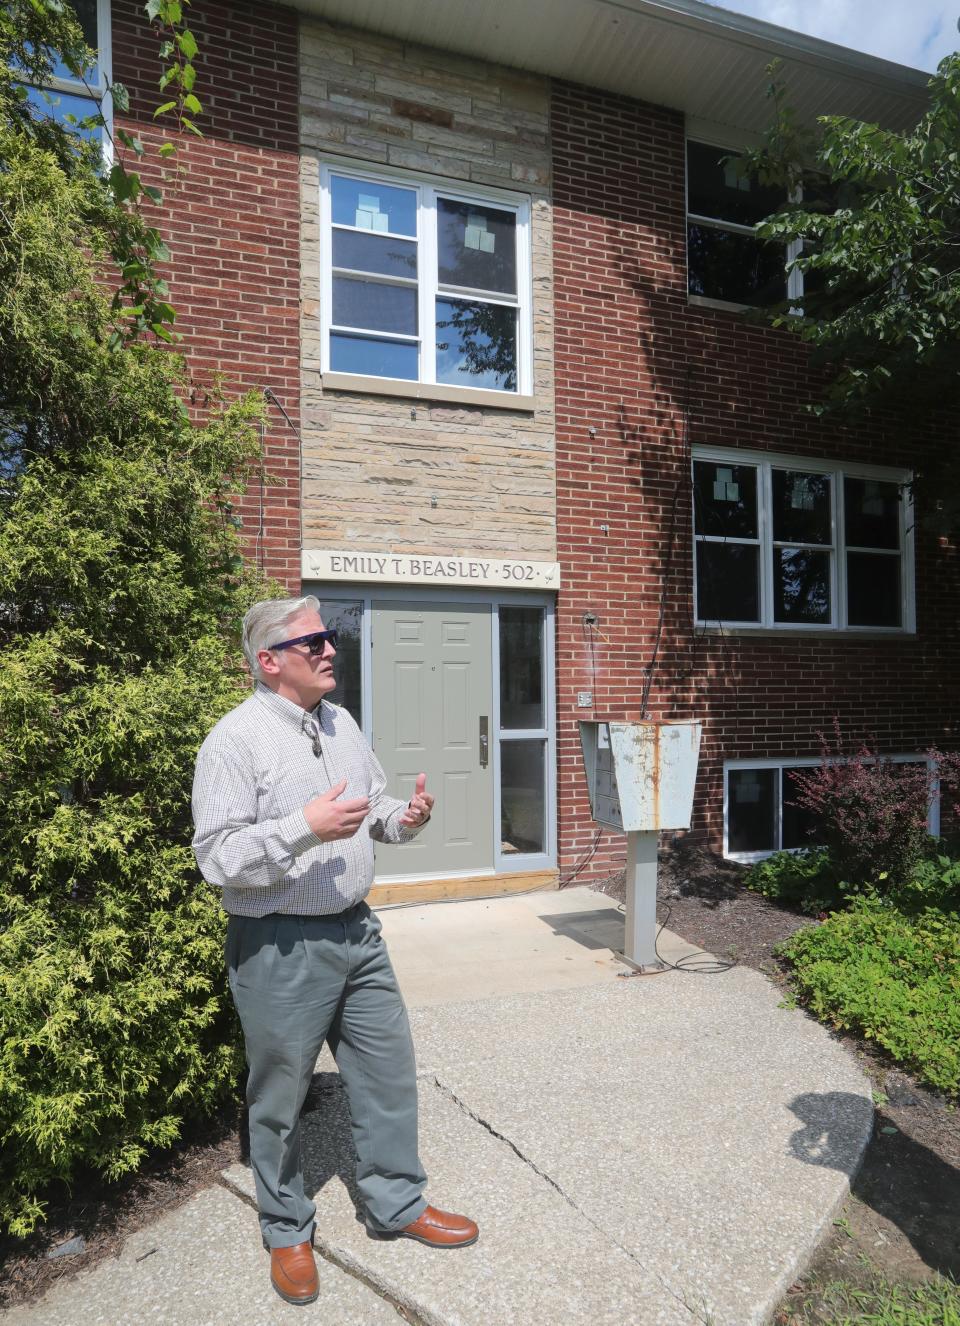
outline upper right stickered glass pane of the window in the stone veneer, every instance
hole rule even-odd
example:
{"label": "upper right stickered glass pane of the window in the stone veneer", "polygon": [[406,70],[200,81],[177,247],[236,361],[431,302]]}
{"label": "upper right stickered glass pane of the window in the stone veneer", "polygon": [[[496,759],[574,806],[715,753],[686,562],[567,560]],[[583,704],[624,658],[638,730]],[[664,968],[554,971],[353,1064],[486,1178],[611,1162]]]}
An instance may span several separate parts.
{"label": "upper right stickered glass pane of the window in the stone veneer", "polygon": [[436,243],[440,284],[516,294],[516,231],[513,212],[439,198]]}

